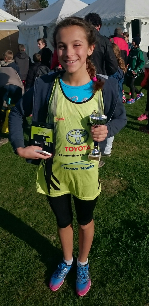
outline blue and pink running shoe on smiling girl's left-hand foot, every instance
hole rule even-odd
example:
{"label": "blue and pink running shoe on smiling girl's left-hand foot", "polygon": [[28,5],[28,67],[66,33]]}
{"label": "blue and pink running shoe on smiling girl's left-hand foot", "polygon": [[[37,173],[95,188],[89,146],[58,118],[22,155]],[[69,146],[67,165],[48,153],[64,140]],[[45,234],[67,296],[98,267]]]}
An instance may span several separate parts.
{"label": "blue and pink running shoe on smiling girl's left-hand foot", "polygon": [[64,262],[58,265],[58,269],[53,273],[53,275],[50,278],[50,282],[49,282],[49,288],[52,291],[56,291],[61,287],[66,275],[68,274],[70,269],[73,267],[73,264],[74,264],[74,261],[72,265],[69,265],[69,266],[67,266],[67,263],[64,263]]}

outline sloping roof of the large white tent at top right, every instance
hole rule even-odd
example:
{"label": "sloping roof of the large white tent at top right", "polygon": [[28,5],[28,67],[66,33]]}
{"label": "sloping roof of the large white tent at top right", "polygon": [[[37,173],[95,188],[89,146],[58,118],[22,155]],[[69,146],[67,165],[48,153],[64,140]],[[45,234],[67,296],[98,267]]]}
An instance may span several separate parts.
{"label": "sloping roof of the large white tent at top right", "polygon": [[147,0],[97,0],[74,16],[85,17],[88,13],[99,14],[102,24],[131,22],[134,18],[145,23],[149,21],[149,3]]}

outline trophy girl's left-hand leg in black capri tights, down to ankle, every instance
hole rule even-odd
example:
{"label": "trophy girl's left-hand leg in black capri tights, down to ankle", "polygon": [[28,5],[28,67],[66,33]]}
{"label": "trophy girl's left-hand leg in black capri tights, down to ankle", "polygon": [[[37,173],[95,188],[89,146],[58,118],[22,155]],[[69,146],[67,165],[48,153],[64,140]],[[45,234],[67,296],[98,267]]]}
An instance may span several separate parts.
{"label": "trophy girl's left-hand leg in black capri tights, down to ankle", "polygon": [[65,260],[73,257],[73,211],[71,195],[65,194],[57,197],[47,197],[58,224],[58,236]]}

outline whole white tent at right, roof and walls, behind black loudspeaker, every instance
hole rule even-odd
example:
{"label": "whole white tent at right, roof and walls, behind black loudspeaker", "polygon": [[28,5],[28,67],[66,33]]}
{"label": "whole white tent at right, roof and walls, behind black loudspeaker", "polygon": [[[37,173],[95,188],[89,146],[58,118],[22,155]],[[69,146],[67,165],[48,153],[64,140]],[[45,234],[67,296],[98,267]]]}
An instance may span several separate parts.
{"label": "whole white tent at right, roof and walls, behind black loudspeaker", "polygon": [[97,0],[81,9],[74,16],[85,17],[88,13],[97,13],[101,17],[102,27],[100,33],[109,37],[114,34],[114,29],[122,28],[122,32],[129,33],[132,41],[131,21],[141,19],[141,44],[140,48],[148,64],[146,53],[149,45],[149,1],[148,0]]}

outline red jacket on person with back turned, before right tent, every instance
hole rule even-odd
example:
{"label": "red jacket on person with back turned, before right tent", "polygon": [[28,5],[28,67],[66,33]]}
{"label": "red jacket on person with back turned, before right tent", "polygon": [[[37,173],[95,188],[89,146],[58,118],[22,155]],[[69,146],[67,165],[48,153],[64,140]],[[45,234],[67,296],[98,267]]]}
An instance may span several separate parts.
{"label": "red jacket on person with back turned, before right tent", "polygon": [[110,39],[112,42],[116,43],[117,46],[121,50],[121,58],[124,60],[125,65],[127,65],[127,57],[129,55],[129,47],[128,44],[125,42],[125,38],[123,35],[116,35]]}

